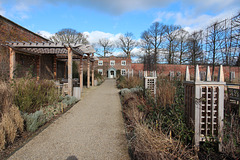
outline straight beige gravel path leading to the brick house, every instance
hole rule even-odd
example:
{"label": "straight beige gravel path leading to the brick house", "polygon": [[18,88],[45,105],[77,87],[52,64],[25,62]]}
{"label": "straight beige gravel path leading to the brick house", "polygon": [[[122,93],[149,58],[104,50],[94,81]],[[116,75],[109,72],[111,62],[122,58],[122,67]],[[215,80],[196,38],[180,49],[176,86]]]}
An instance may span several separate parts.
{"label": "straight beige gravel path leading to the brick house", "polygon": [[129,159],[115,84],[85,89],[80,102],[9,159]]}

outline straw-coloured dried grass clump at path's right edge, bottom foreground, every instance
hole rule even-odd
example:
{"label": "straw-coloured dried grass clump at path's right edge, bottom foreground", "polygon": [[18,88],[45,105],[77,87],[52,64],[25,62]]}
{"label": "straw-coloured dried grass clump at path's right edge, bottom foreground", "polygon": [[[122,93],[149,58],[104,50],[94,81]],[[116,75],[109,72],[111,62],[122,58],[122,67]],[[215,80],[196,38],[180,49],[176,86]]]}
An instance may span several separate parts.
{"label": "straw-coloured dried grass clump at path's right edge, bottom foreground", "polygon": [[197,159],[192,150],[184,147],[180,141],[140,123],[135,127],[135,138],[131,143],[136,159]]}

